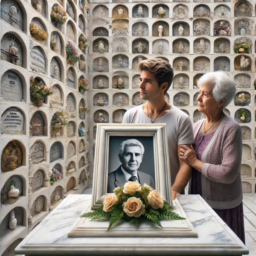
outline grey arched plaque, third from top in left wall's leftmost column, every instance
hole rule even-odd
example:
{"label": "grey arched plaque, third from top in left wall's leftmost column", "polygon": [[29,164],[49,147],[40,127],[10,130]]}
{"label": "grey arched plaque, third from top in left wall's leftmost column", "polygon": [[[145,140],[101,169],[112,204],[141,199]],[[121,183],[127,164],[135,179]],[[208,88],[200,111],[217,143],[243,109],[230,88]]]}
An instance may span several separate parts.
{"label": "grey arched plaque, third from top in left wall's leftmost column", "polygon": [[6,101],[23,101],[23,87],[20,77],[12,72],[6,71],[1,78],[0,95]]}

